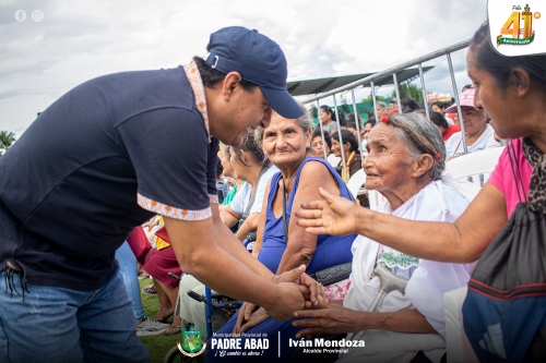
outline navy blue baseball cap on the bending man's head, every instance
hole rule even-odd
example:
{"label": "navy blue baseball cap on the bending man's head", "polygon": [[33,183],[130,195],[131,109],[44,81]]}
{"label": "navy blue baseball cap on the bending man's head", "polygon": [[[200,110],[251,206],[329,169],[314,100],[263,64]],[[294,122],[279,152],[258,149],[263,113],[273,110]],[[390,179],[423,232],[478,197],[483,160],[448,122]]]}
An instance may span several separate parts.
{"label": "navy blue baseball cap on the bending man's head", "polygon": [[271,107],[286,119],[304,111],[286,89],[288,69],[281,47],[266,36],[242,26],[224,27],[211,34],[206,64],[222,73],[238,72],[242,80],[260,86]]}

